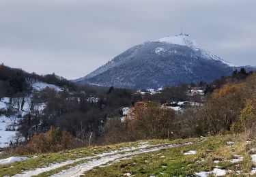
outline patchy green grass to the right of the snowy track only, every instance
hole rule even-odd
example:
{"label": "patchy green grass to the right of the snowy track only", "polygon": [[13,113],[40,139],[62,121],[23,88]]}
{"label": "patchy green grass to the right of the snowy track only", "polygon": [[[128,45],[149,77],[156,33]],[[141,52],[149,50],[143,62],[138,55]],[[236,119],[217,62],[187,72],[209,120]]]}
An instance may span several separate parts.
{"label": "patchy green grass to the right of the snowy track only", "polygon": [[[234,144],[227,146],[229,141]],[[253,153],[250,149],[254,147],[255,143],[246,144],[240,136],[213,137],[199,144],[137,155],[126,161],[95,168],[85,176],[195,176],[195,172],[211,172],[216,167],[227,170],[227,176],[248,176],[254,167],[250,156]],[[197,154],[184,155],[189,150],[196,150]],[[243,160],[239,161],[241,157]]]}

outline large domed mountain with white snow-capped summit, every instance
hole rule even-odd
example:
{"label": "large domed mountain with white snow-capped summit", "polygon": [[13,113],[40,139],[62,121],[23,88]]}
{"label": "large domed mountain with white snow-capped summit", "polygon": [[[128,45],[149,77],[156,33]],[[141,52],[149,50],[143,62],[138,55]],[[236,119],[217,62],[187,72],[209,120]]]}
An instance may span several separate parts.
{"label": "large domed mountain with white snow-capped summit", "polygon": [[180,34],[134,46],[77,83],[119,88],[159,88],[189,82],[211,82],[234,65]]}

